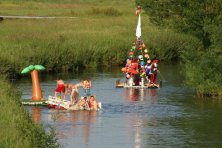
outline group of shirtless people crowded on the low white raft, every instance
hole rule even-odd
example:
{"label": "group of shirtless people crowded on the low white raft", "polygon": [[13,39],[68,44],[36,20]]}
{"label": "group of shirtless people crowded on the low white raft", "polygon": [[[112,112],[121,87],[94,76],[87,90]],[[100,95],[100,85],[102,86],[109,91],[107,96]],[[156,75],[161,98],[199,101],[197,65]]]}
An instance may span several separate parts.
{"label": "group of shirtless people crowded on the low white raft", "polygon": [[[79,88],[82,87],[84,90],[84,97],[79,99]],[[97,110],[98,103],[95,95],[91,95],[90,88],[92,87],[92,82],[90,80],[83,80],[80,83],[66,84],[63,80],[57,80],[57,87],[55,89],[54,97],[60,95],[61,99],[66,100],[66,95],[70,94],[70,107],[75,105],[80,109],[90,109]]]}

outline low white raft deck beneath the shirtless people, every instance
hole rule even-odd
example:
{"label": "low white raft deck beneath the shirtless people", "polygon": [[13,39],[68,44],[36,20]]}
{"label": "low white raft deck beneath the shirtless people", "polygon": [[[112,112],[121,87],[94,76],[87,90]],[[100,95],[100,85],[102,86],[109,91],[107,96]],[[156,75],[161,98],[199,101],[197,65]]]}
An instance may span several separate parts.
{"label": "low white raft deck beneath the shirtless people", "polygon": [[[77,104],[70,106],[70,101],[60,99],[58,97],[49,96],[46,101],[48,108],[53,109],[65,109],[65,110],[90,110],[89,108],[79,107]],[[101,109],[101,102],[98,103],[99,109]]]}

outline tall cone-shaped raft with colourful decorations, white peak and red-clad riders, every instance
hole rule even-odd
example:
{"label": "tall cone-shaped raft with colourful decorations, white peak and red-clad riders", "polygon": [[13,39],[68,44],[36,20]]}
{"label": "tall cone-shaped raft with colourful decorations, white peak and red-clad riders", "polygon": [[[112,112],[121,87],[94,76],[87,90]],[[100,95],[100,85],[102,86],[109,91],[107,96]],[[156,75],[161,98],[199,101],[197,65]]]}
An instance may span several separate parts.
{"label": "tall cone-shaped raft with colourful decorations, white peak and red-clad riders", "polygon": [[117,88],[160,88],[157,83],[157,73],[160,71],[157,68],[158,59],[150,58],[150,50],[145,45],[141,38],[141,6],[137,7],[136,15],[138,23],[136,27],[136,41],[133,42],[132,48],[129,51],[129,57],[126,60],[126,65],[121,69],[125,74],[125,82],[116,81]]}

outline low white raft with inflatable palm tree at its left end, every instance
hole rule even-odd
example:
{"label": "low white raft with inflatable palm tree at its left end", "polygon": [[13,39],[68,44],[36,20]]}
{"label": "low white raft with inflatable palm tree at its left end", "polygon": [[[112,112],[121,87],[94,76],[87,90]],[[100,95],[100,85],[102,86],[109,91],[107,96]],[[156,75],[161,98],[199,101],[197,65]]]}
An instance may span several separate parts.
{"label": "low white raft with inflatable palm tree at its left end", "polygon": [[[35,106],[47,106],[53,109],[66,109],[66,110],[99,110],[102,107],[101,102],[96,104],[96,108],[90,106],[89,97],[80,99],[80,103],[72,104],[70,101],[62,99],[61,97],[49,96],[48,99],[44,99],[42,95],[42,90],[40,86],[38,72],[45,70],[42,65],[29,65],[22,70],[22,74],[31,74],[32,78],[32,98],[31,100],[22,100],[23,105],[35,105]],[[90,96],[92,97],[92,96]],[[95,97],[95,95],[93,95]],[[85,101],[85,102],[84,102]]]}

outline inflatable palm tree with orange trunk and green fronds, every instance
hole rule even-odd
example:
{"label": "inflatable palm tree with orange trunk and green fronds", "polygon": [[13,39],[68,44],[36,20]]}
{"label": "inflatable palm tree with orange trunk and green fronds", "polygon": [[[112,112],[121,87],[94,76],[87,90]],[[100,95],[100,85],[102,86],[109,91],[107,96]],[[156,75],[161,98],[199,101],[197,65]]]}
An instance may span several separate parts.
{"label": "inflatable palm tree with orange trunk and green fronds", "polygon": [[22,70],[22,74],[31,73],[32,77],[32,100],[40,101],[42,100],[42,90],[39,83],[38,71],[45,70],[42,65],[30,65]]}

